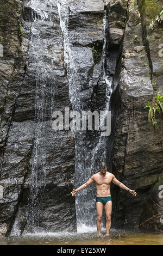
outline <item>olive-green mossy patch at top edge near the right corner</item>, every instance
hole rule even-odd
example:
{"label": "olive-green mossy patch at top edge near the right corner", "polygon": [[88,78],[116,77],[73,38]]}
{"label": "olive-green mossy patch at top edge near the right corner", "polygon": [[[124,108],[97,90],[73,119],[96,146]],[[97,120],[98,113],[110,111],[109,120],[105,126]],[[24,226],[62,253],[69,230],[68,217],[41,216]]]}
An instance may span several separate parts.
{"label": "olive-green mossy patch at top edge near the right corner", "polygon": [[158,3],[155,0],[145,0],[146,16],[149,20],[154,19],[162,10],[162,2]]}

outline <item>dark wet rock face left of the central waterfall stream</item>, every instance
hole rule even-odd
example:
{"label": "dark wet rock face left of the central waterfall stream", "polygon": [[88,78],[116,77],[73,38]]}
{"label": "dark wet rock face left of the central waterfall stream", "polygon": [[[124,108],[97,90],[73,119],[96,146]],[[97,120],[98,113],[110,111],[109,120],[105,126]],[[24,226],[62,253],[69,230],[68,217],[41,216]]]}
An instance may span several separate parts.
{"label": "dark wet rock face left of the central waterfall stream", "polygon": [[[35,226],[76,230],[70,195],[74,141],[70,131],[52,129],[53,111],[71,109],[57,5],[48,1],[1,1],[0,5],[4,46],[0,232],[20,235]],[[20,19],[17,14],[22,14]]]}

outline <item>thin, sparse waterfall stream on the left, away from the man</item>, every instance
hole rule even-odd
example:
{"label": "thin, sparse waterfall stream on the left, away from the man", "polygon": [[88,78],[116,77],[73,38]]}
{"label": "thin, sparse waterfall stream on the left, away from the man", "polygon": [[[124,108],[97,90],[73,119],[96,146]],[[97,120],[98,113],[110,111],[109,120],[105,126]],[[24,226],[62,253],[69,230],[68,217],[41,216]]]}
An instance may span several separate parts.
{"label": "thin, sparse waterfall stream on the left, away from the man", "polygon": [[[53,26],[51,21],[53,1],[31,0],[26,1],[25,7],[32,10],[32,22],[30,29],[28,69],[35,70],[35,126],[34,126],[34,149],[30,160],[32,173],[30,176],[30,197],[29,197],[29,217],[27,229],[37,230],[40,227],[41,198],[45,192],[46,184],[46,147],[47,140],[52,127],[52,109],[54,106],[55,78],[52,63],[48,63],[46,58],[50,57],[48,45],[50,41],[41,38],[41,33],[45,31],[46,25]],[[48,6],[48,7],[47,7]],[[51,41],[52,42],[52,41]]]}

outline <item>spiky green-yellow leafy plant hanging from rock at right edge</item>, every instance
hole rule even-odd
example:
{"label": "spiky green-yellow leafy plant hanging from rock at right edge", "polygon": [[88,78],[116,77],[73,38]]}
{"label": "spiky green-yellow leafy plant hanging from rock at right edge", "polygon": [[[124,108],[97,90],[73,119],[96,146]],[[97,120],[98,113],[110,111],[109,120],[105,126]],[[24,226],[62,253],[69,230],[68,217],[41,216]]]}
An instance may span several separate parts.
{"label": "spiky green-yellow leafy plant hanging from rock at right edge", "polygon": [[156,112],[159,112],[160,115],[161,113],[163,113],[163,96],[160,96],[158,93],[154,102],[151,104],[148,101],[148,105],[145,106],[145,108],[149,108],[148,122],[152,122],[153,125],[155,126],[157,124],[155,119]]}

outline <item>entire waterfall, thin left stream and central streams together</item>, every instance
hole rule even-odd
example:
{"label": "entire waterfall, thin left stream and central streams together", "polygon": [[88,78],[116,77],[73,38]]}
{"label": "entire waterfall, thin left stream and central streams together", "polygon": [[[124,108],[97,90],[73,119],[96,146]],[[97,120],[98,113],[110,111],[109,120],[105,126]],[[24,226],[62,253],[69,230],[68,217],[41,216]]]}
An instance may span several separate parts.
{"label": "entire waterfall, thin left stream and central streams together", "polygon": [[[69,1],[71,2],[71,1]],[[68,3],[69,3],[68,2]],[[96,64],[93,62],[92,48],[73,45],[73,36],[70,31],[70,6],[66,0],[56,0],[60,27],[64,39],[64,62],[67,70],[69,83],[69,97],[72,110],[82,112],[92,110],[92,84],[93,69]],[[48,139],[53,137],[52,133],[52,110],[55,108],[55,70],[53,61],[55,56],[49,52],[49,46],[53,45],[54,36],[50,31],[48,39],[42,35],[47,27],[53,27],[52,13],[53,1],[31,0],[26,1],[25,6],[30,8],[32,22],[30,23],[30,56],[28,69],[35,70],[33,81],[35,92],[35,141],[33,154],[30,159],[32,173],[30,175],[30,198],[29,216],[26,225],[27,231],[38,231],[45,228],[42,225],[43,209],[42,197],[46,192],[46,147],[49,149]],[[110,96],[112,92],[112,75],[108,72],[108,63],[112,65],[112,56],[108,58],[108,10],[105,8],[103,16],[103,52],[101,63],[99,63],[99,87],[103,86],[105,96],[104,103],[100,110],[108,111],[110,106]],[[56,48],[54,49],[56,51]],[[28,58],[28,57],[27,57]],[[65,76],[65,74],[62,74]],[[87,100],[89,99],[89,100]],[[66,106],[65,106],[66,107]],[[99,112],[99,109],[95,109]],[[105,118],[105,115],[103,116]],[[75,141],[76,165],[75,165],[75,187],[79,187],[91,175],[99,170],[99,162],[108,158],[107,145],[108,137],[102,137],[101,131],[73,131]],[[96,228],[96,187],[95,184],[87,187],[76,194],[76,215],[77,229],[83,227]]]}

